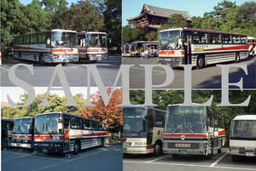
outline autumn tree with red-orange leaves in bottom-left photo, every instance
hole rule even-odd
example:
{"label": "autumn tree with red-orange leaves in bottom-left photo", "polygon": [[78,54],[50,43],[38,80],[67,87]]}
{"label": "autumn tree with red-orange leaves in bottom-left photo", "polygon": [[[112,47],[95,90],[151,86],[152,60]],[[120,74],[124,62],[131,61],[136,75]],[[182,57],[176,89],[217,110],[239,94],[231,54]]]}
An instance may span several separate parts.
{"label": "autumn tree with red-orange leaves in bottom-left photo", "polygon": [[[112,88],[107,88],[108,95],[111,90]],[[122,90],[120,88],[113,90],[113,95],[107,106],[104,104],[99,91],[96,94],[91,94],[90,100],[96,106],[79,108],[80,116],[108,123],[111,131],[119,132],[123,125],[123,107],[118,106],[122,103]]]}

